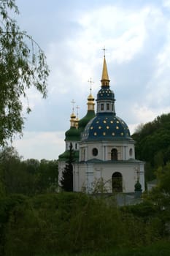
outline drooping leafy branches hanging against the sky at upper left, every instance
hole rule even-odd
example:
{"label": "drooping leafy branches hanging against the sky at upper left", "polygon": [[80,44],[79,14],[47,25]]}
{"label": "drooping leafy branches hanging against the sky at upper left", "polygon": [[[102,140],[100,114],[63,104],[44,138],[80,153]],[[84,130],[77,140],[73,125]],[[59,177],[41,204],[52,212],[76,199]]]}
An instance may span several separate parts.
{"label": "drooping leafy branches hanging against the sky at upper left", "polygon": [[[49,69],[45,53],[26,31],[20,31],[9,12],[19,14],[15,0],[0,1],[0,145],[22,135],[24,118],[21,97],[34,86],[47,96]],[[27,106],[27,113],[31,109]]]}

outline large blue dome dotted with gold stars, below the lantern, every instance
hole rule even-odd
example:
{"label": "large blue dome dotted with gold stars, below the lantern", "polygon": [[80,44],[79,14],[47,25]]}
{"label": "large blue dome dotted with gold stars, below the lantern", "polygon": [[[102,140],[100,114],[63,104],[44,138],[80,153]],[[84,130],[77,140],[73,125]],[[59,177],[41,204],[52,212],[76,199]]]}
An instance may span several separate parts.
{"label": "large blue dome dotted with gold stars, below the lantern", "polygon": [[114,113],[97,115],[88,122],[82,140],[132,140],[127,124]]}

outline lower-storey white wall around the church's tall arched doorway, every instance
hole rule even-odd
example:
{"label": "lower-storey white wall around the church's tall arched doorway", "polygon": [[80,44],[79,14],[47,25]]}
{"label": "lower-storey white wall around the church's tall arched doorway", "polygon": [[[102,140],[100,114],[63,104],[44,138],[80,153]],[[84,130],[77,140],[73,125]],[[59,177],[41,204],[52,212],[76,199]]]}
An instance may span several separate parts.
{"label": "lower-storey white wall around the church's tall arched doorway", "polygon": [[144,173],[140,169],[142,165],[139,163],[126,164],[87,164],[82,163],[75,165],[74,175],[78,177],[77,184],[74,185],[74,191],[90,192],[97,184],[99,179],[104,181],[107,192],[112,193],[112,175],[113,173],[121,173],[123,177],[123,192],[134,192],[134,185],[138,178],[138,171],[140,173],[139,182],[142,184],[142,191],[144,191]]}

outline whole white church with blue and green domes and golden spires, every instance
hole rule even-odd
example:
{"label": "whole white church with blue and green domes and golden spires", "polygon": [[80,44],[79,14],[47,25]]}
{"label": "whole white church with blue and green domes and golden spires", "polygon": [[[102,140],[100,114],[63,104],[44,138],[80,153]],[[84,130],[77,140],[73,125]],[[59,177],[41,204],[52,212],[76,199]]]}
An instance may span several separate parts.
{"label": "whole white church with blue and green domes and golden spires", "polygon": [[136,187],[141,187],[144,191],[144,162],[135,159],[135,142],[128,126],[116,116],[115,94],[110,89],[109,82],[104,56],[96,113],[95,99],[90,92],[88,112],[79,120],[73,111],[70,129],[65,133],[66,150],[58,157],[58,181],[60,184],[72,143],[75,153],[75,192],[93,192],[100,182],[108,193],[132,193]]}

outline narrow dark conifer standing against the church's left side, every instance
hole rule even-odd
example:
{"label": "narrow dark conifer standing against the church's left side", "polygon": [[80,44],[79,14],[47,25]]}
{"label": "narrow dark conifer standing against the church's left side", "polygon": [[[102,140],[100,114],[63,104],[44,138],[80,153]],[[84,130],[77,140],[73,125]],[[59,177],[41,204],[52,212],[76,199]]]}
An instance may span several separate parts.
{"label": "narrow dark conifer standing against the church's left side", "polygon": [[69,192],[73,191],[73,166],[74,162],[74,150],[72,143],[69,147],[69,159],[66,161],[66,167],[63,170],[63,176],[61,178],[61,187],[63,190]]}

